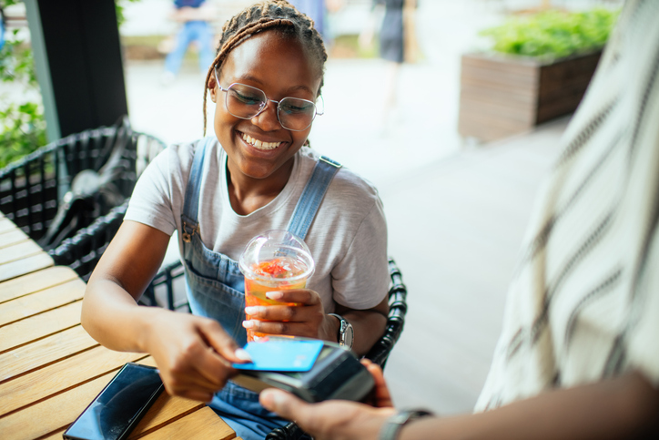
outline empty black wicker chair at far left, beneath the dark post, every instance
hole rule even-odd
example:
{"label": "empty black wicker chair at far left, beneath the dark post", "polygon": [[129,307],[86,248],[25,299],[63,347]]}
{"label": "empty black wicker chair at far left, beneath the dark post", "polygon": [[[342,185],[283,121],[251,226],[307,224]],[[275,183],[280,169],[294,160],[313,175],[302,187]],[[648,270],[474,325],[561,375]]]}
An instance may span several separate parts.
{"label": "empty black wicker chair at far left, beneath the dark post", "polygon": [[[0,211],[51,250],[129,197],[163,147],[134,132],[127,117],[59,139],[0,170]],[[97,191],[89,190],[89,178]]]}

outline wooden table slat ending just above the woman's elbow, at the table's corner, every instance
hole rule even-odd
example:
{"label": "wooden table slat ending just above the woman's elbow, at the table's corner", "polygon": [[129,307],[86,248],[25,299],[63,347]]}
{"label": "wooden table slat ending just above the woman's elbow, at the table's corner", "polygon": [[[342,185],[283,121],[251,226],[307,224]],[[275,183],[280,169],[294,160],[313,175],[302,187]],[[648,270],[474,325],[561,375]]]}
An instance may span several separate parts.
{"label": "wooden table slat ending just above the woman's elbow, at the table's corner", "polygon": [[85,296],[85,288],[85,281],[78,278],[41,292],[4,302],[0,304],[0,327],[9,322],[55,309],[63,304],[82,300]]}

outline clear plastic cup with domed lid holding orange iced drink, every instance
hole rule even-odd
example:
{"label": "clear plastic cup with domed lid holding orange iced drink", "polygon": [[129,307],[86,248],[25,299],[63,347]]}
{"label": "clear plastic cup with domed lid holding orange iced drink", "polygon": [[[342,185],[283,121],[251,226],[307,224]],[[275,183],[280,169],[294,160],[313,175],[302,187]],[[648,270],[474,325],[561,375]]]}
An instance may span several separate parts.
{"label": "clear plastic cup with domed lid holding orange iced drink", "polygon": [[[249,240],[240,261],[245,275],[245,303],[249,306],[298,305],[266,298],[266,292],[304,289],[313,274],[315,264],[304,240],[288,230],[268,230]],[[246,314],[248,320],[252,317]],[[247,331],[248,342],[267,336]]]}

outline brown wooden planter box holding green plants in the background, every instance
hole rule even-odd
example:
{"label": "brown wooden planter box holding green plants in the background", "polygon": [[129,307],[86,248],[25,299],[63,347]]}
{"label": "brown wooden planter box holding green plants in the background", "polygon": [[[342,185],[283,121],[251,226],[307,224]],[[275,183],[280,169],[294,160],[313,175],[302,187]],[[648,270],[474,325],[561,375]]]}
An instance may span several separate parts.
{"label": "brown wooden planter box holding green plants in the background", "polygon": [[458,131],[463,137],[488,142],[572,113],[601,55],[598,51],[553,62],[462,56]]}

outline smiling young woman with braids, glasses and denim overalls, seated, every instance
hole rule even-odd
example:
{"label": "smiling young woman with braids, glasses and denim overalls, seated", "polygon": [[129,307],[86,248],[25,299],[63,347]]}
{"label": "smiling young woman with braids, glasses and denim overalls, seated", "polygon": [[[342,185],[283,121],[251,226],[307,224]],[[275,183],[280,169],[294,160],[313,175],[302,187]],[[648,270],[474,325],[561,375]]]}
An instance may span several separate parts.
{"label": "smiling young woman with braids, glasses and denim overalls, seated", "polygon": [[[346,321],[352,349],[366,353],[386,323],[387,230],[377,191],[308,146],[326,59],[309,18],[285,1],[233,17],[205,85],[215,136],[171,146],[148,166],[87,283],[88,333],[108,348],[151,354],[169,394],[210,402],[245,440],[285,423],[257,394],[227,382],[236,373],[229,363],[246,360],[246,328],[337,342]],[[258,307],[245,321],[236,261],[248,240],[272,229],[303,237],[316,271],[307,289],[270,294],[299,306]],[[136,302],[175,230],[193,314]]]}

